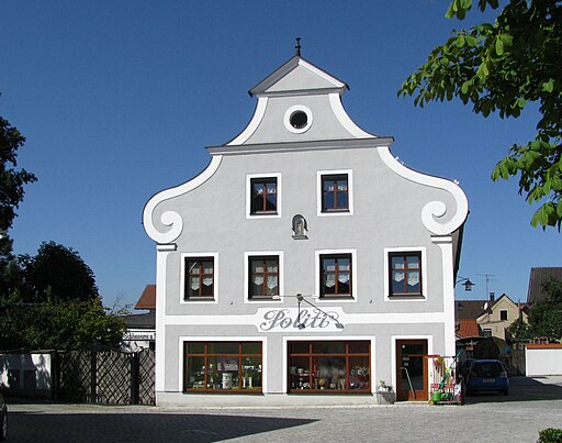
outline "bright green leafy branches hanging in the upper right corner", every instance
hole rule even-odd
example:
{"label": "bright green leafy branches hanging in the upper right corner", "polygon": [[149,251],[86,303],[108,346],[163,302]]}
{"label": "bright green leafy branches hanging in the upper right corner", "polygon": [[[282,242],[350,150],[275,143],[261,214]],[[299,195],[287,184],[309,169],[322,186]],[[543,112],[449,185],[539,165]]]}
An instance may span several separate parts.
{"label": "bright green leafy branches hanging in the upper right corner", "polygon": [[[453,0],[446,16],[463,20],[472,0]],[[497,9],[498,0],[477,0]],[[494,23],[481,23],[436,47],[406,78],[398,96],[414,104],[460,99],[477,114],[517,118],[529,102],[539,106],[535,139],[514,144],[492,179],[519,176],[519,193],[540,204],[531,225],[562,223],[562,1],[509,0]]]}

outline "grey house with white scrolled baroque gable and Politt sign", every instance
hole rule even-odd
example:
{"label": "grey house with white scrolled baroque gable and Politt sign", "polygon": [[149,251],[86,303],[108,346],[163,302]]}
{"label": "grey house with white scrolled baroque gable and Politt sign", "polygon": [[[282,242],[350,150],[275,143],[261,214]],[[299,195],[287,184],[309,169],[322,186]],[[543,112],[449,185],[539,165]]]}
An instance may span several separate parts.
{"label": "grey house with white scrolled baroque gable and Politt sign", "polygon": [[382,379],[423,400],[424,355],[454,355],[467,198],[358,128],[346,89],[297,52],[206,169],[146,204],[159,405],[366,403]]}

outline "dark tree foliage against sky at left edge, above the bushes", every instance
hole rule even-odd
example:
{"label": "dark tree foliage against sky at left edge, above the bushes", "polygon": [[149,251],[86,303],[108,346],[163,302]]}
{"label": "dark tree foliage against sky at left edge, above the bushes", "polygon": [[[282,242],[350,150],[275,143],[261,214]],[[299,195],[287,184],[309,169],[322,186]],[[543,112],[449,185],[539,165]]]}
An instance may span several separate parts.
{"label": "dark tree foliage against sky at left edge, above the bushes", "polygon": [[5,232],[12,228],[15,210],[23,200],[23,187],[36,180],[25,169],[16,169],[18,149],[25,143],[25,137],[8,120],[0,117],[0,256],[12,251],[12,242]]}

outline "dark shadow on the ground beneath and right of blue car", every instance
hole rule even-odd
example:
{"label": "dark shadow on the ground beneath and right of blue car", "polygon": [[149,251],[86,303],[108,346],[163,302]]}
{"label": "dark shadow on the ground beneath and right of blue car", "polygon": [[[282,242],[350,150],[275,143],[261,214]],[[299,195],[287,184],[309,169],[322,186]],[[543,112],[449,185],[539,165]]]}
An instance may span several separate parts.
{"label": "dark shadow on the ground beneath and right of blue car", "polygon": [[512,377],[509,379],[509,395],[501,392],[475,392],[465,398],[467,405],[508,402],[508,401],[537,401],[561,400],[562,386],[548,381],[547,377]]}

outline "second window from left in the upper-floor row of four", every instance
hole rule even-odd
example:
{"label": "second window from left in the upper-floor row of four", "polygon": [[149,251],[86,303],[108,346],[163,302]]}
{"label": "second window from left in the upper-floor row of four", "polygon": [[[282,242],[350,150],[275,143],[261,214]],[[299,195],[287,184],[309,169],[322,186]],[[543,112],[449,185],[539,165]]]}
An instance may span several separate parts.
{"label": "second window from left in the upper-floor row of four", "polygon": [[248,298],[273,299],[279,297],[279,256],[248,257]]}

